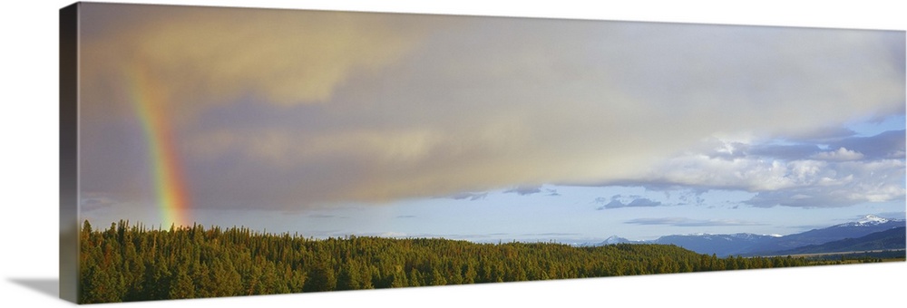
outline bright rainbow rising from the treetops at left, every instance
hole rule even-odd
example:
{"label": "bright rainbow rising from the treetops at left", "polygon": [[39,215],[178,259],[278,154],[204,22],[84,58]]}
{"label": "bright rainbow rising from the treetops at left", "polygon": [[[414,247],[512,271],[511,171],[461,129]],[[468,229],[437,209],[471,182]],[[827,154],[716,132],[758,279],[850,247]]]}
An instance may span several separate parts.
{"label": "bright rainbow rising from the treetops at left", "polygon": [[189,198],[168,123],[166,97],[161,93],[163,88],[142,65],[132,67],[127,80],[130,101],[141,121],[151,154],[149,164],[162,225],[190,226]]}

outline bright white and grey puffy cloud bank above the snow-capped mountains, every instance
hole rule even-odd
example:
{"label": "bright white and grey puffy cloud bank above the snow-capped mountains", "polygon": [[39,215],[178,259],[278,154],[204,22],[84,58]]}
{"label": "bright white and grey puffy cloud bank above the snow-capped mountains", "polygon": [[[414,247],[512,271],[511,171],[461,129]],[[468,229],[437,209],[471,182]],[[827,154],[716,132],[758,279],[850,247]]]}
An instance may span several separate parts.
{"label": "bright white and grey puffy cloud bank above the snow-capped mountains", "polygon": [[690,155],[668,159],[639,183],[756,192],[745,202],[756,207],[844,207],[904,196],[902,159],[824,159],[726,160]]}

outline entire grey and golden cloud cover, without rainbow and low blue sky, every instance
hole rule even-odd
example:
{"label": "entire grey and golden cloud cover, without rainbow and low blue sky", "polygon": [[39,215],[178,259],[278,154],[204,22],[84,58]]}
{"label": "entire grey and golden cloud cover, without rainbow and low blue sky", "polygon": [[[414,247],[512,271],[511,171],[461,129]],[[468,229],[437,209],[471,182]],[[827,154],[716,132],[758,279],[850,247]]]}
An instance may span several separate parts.
{"label": "entire grey and golden cloud cover, without rainbow and low blue sky", "polygon": [[[463,192],[524,183],[898,195],[860,197],[857,184],[895,180],[857,172],[868,165],[759,140],[902,112],[900,32],[88,7],[120,16],[85,19],[81,149],[93,191],[154,193],[122,72],[138,64],[173,117],[192,207],[475,200],[485,195]],[[879,141],[829,149],[902,159]],[[894,165],[874,168],[896,178]]]}

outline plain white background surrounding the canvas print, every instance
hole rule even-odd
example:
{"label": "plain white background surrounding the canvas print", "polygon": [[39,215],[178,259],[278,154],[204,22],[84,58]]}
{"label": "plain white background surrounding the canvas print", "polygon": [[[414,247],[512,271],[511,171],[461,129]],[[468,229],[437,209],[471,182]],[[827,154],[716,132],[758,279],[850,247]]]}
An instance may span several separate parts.
{"label": "plain white background surrounding the canvas print", "polygon": [[[120,1],[133,3],[134,1]],[[9,3],[12,3],[9,4]],[[0,14],[0,298],[58,307],[58,12],[67,1],[16,1]],[[246,7],[481,14],[707,24],[901,30],[895,1],[147,1]],[[853,306],[904,303],[907,264],[840,265],[560,282],[120,303],[135,307]]]}

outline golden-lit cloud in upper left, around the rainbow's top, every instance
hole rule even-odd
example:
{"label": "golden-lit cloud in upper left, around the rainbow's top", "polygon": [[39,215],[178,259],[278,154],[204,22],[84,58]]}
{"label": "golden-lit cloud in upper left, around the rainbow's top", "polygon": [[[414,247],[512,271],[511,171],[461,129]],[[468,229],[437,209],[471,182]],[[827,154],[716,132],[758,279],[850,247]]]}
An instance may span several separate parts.
{"label": "golden-lit cloud in upper left, around the rainbow's top", "polygon": [[121,110],[111,103],[128,99],[122,91],[132,85],[123,82],[142,70],[161,103],[180,111],[174,114],[244,97],[282,107],[327,103],[347,80],[401,61],[427,29],[444,23],[169,5],[84,5],[82,14],[85,97],[115,99],[96,103]]}

